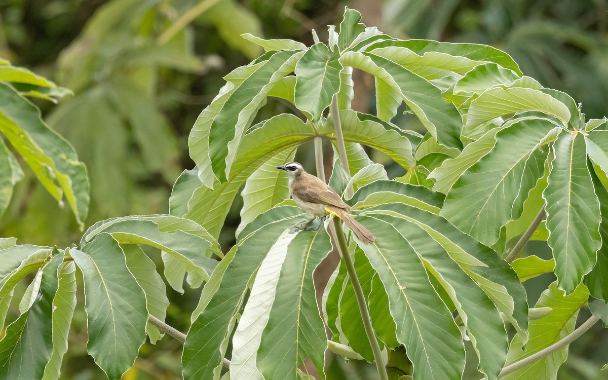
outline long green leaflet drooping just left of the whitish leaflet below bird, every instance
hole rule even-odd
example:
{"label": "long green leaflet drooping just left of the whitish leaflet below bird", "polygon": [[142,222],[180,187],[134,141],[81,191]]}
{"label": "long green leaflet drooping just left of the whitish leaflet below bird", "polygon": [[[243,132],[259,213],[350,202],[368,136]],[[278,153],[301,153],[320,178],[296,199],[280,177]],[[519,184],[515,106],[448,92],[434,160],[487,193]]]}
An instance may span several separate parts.
{"label": "long green leaflet drooping just left of the whitish leaflet below bird", "polygon": [[[278,237],[307,216],[299,207],[279,206],[247,225],[209,279],[196,308],[182,354],[185,379],[212,378],[221,368],[227,340],[247,294],[247,285]],[[217,372],[219,375],[219,372]]]}

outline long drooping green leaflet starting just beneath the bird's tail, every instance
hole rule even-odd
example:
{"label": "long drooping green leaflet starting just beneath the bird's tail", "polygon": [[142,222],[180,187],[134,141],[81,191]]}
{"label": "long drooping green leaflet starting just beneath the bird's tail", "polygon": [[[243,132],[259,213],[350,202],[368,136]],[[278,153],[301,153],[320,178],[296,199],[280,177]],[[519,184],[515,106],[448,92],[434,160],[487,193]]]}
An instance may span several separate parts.
{"label": "long drooping green leaflet starting just beneath the bird's tail", "polygon": [[412,246],[391,226],[375,218],[359,220],[376,235],[359,244],[389,295],[397,339],[406,346],[418,379],[459,378],[465,367],[460,331],[441,301]]}

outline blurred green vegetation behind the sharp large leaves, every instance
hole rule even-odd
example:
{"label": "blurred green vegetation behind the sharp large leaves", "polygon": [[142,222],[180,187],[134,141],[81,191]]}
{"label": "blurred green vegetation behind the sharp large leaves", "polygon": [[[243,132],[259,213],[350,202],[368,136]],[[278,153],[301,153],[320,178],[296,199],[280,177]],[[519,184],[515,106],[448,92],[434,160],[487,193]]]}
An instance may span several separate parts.
{"label": "blurred green vegetation behind the sharp large leaves", "polygon": [[[112,216],[167,212],[173,182],[184,168],[193,167],[187,135],[196,117],[218,92],[224,75],[261,54],[259,47],[240,37],[242,33],[309,45],[309,30],[316,29],[324,39],[325,25],[339,22],[344,5],[360,10],[365,24],[398,38],[498,47],[513,56],[524,74],[582,102],[588,119],[608,114],[606,1],[365,3],[9,0],[0,3],[0,57],[74,91],[59,105],[36,104],[89,167],[92,202],[87,227]],[[189,19],[192,22],[183,27],[167,29]],[[373,81],[357,75],[353,109],[373,109]],[[270,100],[257,117],[268,119],[287,109],[289,103]],[[422,130],[415,118],[399,117],[399,125]],[[372,158],[384,162],[382,156]],[[298,159],[314,166],[312,154]],[[392,170],[390,174],[399,174],[398,168]],[[238,206],[236,202],[227,218],[233,229],[238,226]],[[80,240],[82,233],[71,210],[60,209],[27,171],[0,228],[2,236],[18,237],[20,243],[59,246]],[[220,240],[226,250],[233,244],[233,232],[224,230]],[[544,241],[529,249],[550,257]],[[525,283],[531,304],[553,281],[551,276]],[[199,291],[186,290],[184,296],[168,292],[168,322],[185,330]],[[587,316],[582,311],[580,318]],[[86,353],[85,320],[78,305],[62,378],[103,376]],[[595,328],[601,331],[601,326]],[[586,334],[572,345],[559,377],[608,378],[606,371],[599,371],[607,361],[607,345],[606,334]],[[143,346],[125,378],[180,378],[177,347],[170,338],[156,347]],[[358,375],[344,373],[342,367],[339,361],[333,363],[333,378],[365,378],[367,373],[364,368]],[[369,378],[374,378],[373,367],[369,369]]]}

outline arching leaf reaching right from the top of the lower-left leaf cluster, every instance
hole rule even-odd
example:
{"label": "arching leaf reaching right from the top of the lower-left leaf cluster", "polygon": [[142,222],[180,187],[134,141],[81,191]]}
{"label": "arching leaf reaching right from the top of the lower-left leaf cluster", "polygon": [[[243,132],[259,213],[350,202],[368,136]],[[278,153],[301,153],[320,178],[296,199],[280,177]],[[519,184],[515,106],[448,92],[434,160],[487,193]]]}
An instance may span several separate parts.
{"label": "arching leaf reaching right from the top of the lower-left leaf cluster", "polygon": [[142,215],[113,218],[95,223],[81,244],[91,241],[98,233],[111,233],[119,243],[145,244],[161,249],[165,261],[165,277],[176,291],[184,292],[184,275],[197,288],[209,278],[220,255],[218,243],[209,232],[195,222],[171,215]]}

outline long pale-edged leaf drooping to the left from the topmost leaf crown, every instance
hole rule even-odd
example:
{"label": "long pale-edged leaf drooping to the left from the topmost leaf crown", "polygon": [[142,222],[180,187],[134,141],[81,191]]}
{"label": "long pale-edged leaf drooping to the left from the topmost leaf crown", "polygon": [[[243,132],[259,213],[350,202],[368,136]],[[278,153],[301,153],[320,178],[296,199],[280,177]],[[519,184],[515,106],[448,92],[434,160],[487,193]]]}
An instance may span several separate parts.
{"label": "long pale-edged leaf drooping to the left from the topmost leaf crown", "polygon": [[239,67],[227,77],[232,89],[201,112],[190,132],[190,155],[204,184],[209,184],[210,175],[226,181],[246,128],[274,83],[294,71],[302,54],[295,50],[277,52],[266,61]]}

